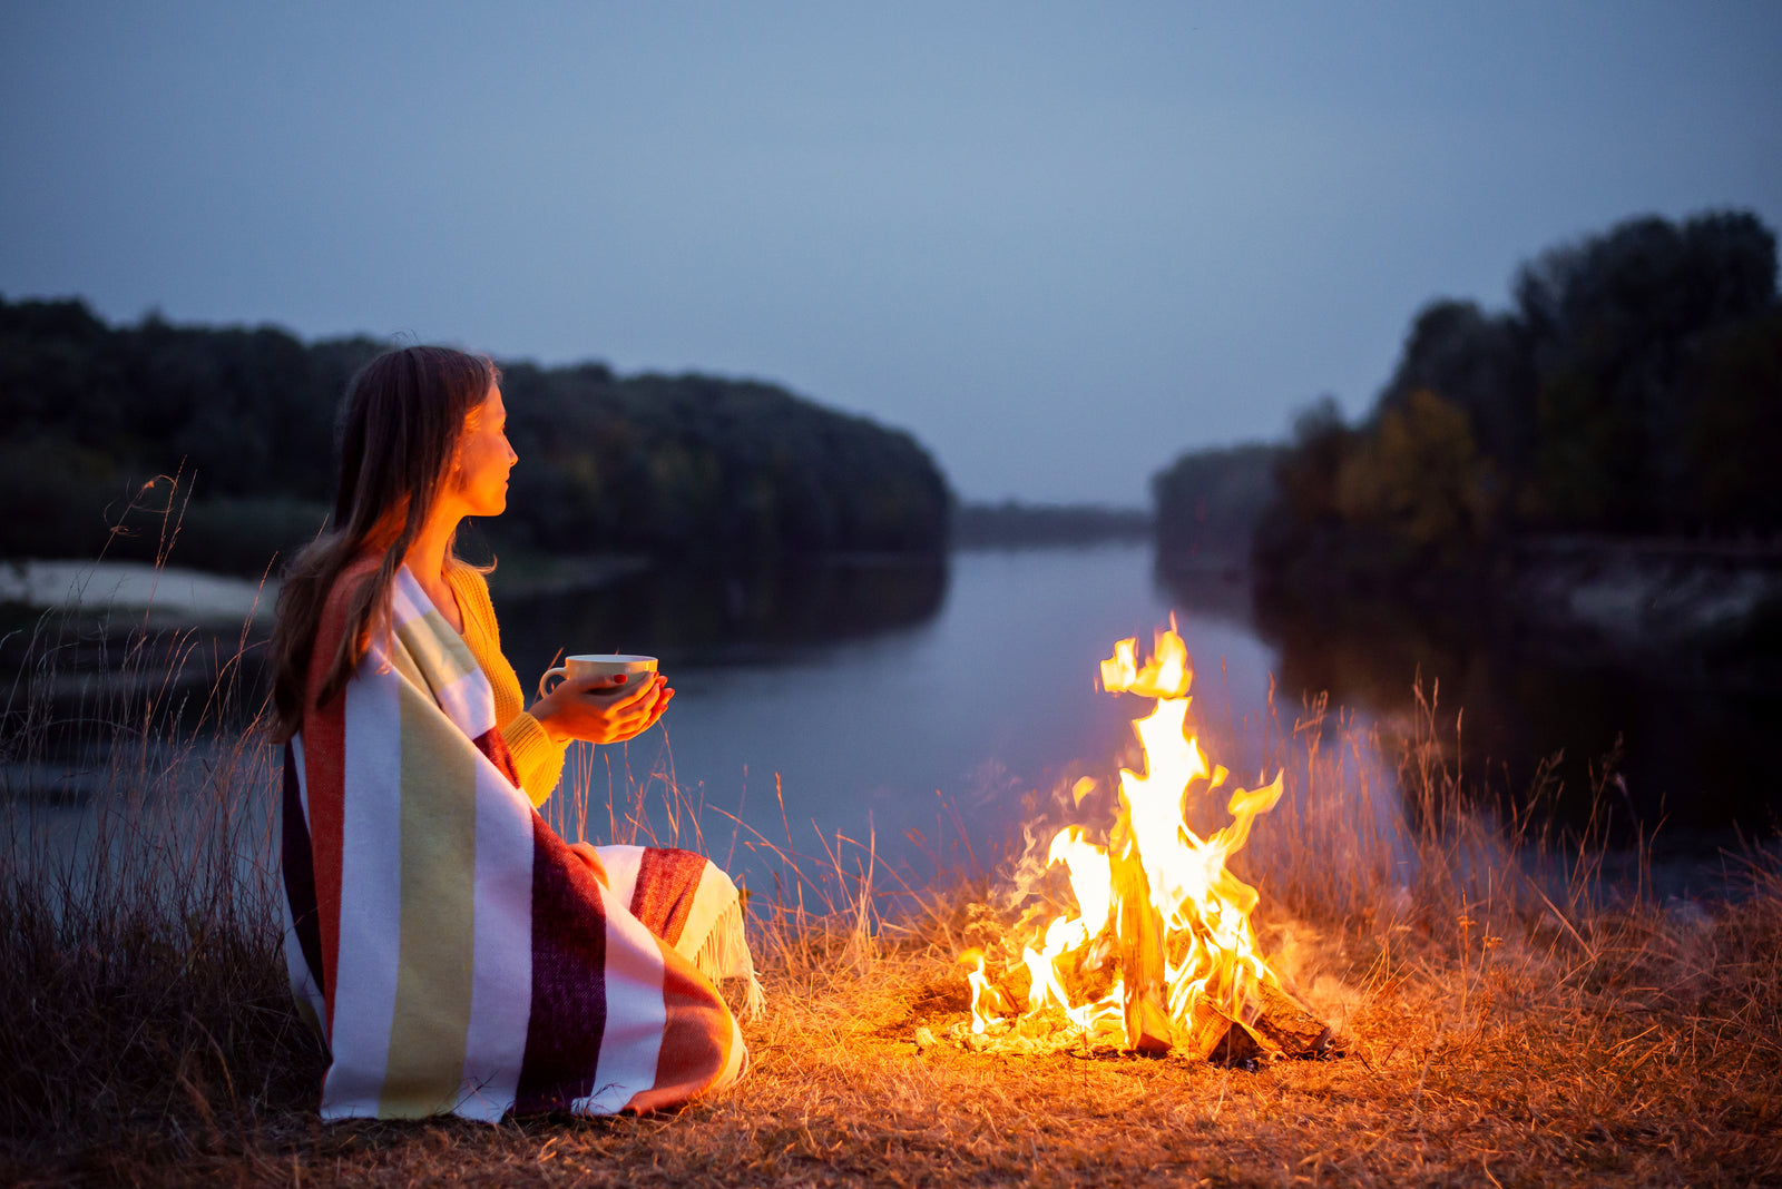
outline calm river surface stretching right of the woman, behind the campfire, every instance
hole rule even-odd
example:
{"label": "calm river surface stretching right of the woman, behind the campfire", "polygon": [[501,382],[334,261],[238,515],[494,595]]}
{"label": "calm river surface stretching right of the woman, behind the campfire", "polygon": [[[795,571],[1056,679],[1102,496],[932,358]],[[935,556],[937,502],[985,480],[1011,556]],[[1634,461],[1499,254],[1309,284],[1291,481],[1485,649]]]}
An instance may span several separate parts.
{"label": "calm river surface stretching right of the woman, behind the campfire", "polygon": [[[677,689],[661,730],[625,749],[583,749],[593,837],[606,829],[611,762],[634,778],[672,767],[684,794],[775,844],[789,835],[807,854],[820,849],[816,831],[861,842],[873,831],[882,856],[928,847],[957,861],[962,829],[982,847],[1018,829],[1030,794],[1044,803],[1076,776],[1114,776],[1128,721],[1148,703],[1096,692],[1098,662],[1121,637],[1148,644],[1173,612],[1199,673],[1196,714],[1224,744],[1212,758],[1238,776],[1255,774],[1244,764],[1258,762],[1246,756],[1260,751],[1271,682],[1278,719],[1267,730],[1290,728],[1304,696],[1329,691],[1363,728],[1377,724],[1390,751],[1415,719],[1422,680],[1426,691],[1440,682],[1438,724],[1470,787],[1525,799],[1536,765],[1559,758],[1541,810],[1559,824],[1588,817],[1591,774],[1618,739],[1604,808],[1629,831],[1663,822],[1661,842],[1711,853],[1734,829],[1773,835],[1782,808],[1775,691],[1456,643],[1408,619],[1263,630],[1242,584],[1160,582],[1142,545],[811,566],[747,582],[643,573],[531,600],[504,600],[497,571],[494,593],[522,675],[560,648],[642,651],[661,657]],[[707,835],[729,828],[723,813],[704,822]],[[707,845],[725,853],[727,835]]]}

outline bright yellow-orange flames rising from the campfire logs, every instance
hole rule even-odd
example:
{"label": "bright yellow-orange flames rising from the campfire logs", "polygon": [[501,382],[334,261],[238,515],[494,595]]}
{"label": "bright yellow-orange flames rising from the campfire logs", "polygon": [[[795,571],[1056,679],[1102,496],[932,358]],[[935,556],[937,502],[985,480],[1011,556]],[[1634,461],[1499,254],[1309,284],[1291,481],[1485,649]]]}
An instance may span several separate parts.
{"label": "bright yellow-orange flames rising from the campfire logs", "polygon": [[[1157,634],[1151,659],[1140,667],[1137,639],[1114,644],[1101,662],[1101,687],[1155,698],[1151,714],[1133,730],[1144,748],[1144,772],[1121,769],[1119,812],[1107,845],[1089,840],[1082,826],[1060,829],[1046,853],[1048,865],[1064,863],[1076,913],[1055,917],[1021,950],[1028,995],[1023,1018],[1046,1007],[1062,1009],[1083,1031],[1119,1022],[1128,1048],[1167,1048],[1171,1034],[1190,1027],[1205,1000],[1238,1020],[1255,1018],[1251,1000],[1258,983],[1278,983],[1249,924],[1258,894],[1226,870],[1226,860],[1249,838],[1258,813],[1281,797],[1281,776],[1258,789],[1233,789],[1226,799],[1231,822],[1210,838],[1185,821],[1190,796],[1212,796],[1230,772],[1208,764],[1189,732],[1189,689],[1194,667],[1174,627]],[[1082,805],[1092,790],[1076,783]],[[1160,945],[1158,945],[1160,936]],[[968,950],[971,1031],[984,1034],[1001,1023],[998,1004],[1012,1009],[984,972],[984,954]],[[1119,977],[1103,993],[1073,995],[1083,972],[1119,965]]]}

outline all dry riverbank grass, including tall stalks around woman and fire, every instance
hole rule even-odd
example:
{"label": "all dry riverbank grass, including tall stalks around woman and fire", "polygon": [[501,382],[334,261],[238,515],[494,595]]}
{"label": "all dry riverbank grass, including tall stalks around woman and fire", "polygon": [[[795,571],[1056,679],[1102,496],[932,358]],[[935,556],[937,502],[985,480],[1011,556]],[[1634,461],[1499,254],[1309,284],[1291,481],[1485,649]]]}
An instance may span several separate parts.
{"label": "all dry riverbank grass, including tall stalks around woman and fire", "polygon": [[[1240,1072],[920,1050],[918,1025],[964,1015],[953,954],[1021,906],[1000,883],[896,888],[870,840],[832,842],[786,853],[773,904],[756,899],[770,1015],[745,1029],[736,1091],[486,1127],[319,1121],[323,1057],[278,950],[264,748],[203,749],[192,726],[107,705],[127,710],[112,742],[137,744],[94,794],[110,833],[57,849],[53,812],[7,805],[0,1182],[1782,1180],[1777,867],[1750,858],[1718,901],[1618,890],[1597,878],[1600,840],[1452,812],[1433,707],[1397,774],[1410,813],[1386,812],[1372,740],[1317,707],[1256,744],[1294,789],[1244,856],[1265,949],[1347,1057]],[[53,719],[11,714],[11,756],[46,748]],[[599,774],[579,776],[586,797]],[[608,831],[700,838],[666,774],[618,787]]]}

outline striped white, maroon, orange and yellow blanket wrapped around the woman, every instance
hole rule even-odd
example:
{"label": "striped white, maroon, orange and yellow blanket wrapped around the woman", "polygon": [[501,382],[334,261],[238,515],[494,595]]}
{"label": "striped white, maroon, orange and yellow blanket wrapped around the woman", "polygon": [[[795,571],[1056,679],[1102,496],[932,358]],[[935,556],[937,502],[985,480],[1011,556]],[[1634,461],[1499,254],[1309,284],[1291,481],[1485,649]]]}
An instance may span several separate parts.
{"label": "striped white, maroon, orange and yellow blanket wrapped around the woman", "polygon": [[[312,689],[355,566],[330,598]],[[565,844],[494,694],[406,568],[394,632],[285,749],[285,959],[328,1043],[324,1118],[670,1107],[747,1066],[715,988],[759,984],[731,879],[690,851]]]}

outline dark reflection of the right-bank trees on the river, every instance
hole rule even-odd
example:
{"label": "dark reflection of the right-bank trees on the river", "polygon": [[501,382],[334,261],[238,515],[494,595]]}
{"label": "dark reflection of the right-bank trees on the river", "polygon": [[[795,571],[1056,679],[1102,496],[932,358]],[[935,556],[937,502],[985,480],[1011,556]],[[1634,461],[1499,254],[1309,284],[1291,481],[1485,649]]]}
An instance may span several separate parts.
{"label": "dark reflection of the right-bank trees on the river", "polygon": [[1782,762],[1768,735],[1782,691],[1559,650],[1397,603],[1262,603],[1255,625],[1279,648],[1283,689],[1329,691],[1335,705],[1372,714],[1388,739],[1415,730],[1422,682],[1438,698],[1449,756],[1488,796],[1527,805],[1547,762],[1540,805],[1557,824],[1582,826],[1593,783],[1604,783],[1623,840],[1661,822],[1672,840],[1770,833],[1782,812]]}

